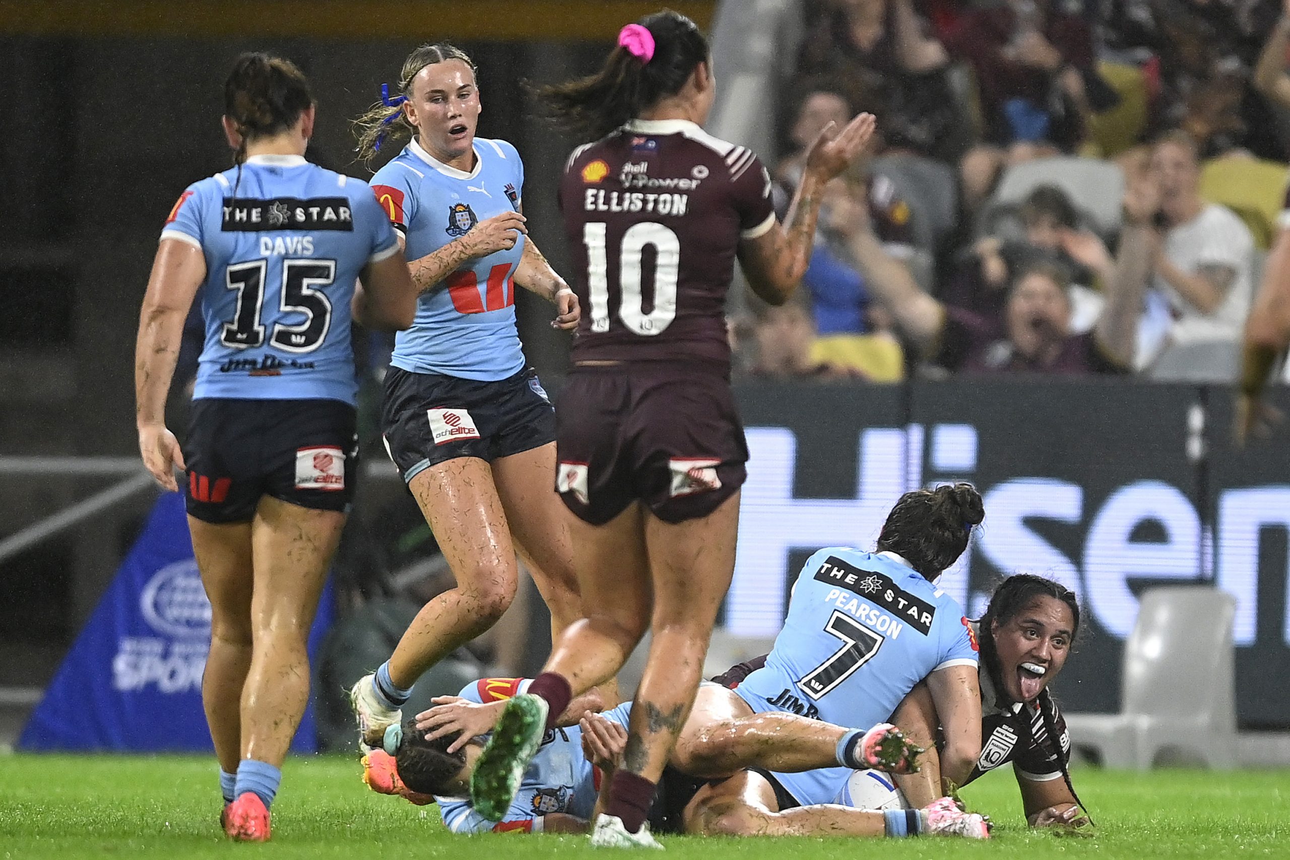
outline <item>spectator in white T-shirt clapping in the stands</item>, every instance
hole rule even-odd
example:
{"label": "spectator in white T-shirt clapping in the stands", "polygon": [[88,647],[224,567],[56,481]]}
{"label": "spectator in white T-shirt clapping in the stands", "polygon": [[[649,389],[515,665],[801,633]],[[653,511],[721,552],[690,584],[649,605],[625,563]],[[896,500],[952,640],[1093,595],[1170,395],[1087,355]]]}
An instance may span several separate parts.
{"label": "spectator in white T-shirt clapping in the stands", "polygon": [[1231,209],[1201,200],[1200,159],[1188,134],[1162,135],[1152,147],[1149,171],[1161,191],[1152,213],[1157,230],[1126,226],[1121,251],[1135,244],[1149,251],[1152,264],[1142,277],[1169,302],[1169,343],[1236,343],[1253,290],[1250,230]]}

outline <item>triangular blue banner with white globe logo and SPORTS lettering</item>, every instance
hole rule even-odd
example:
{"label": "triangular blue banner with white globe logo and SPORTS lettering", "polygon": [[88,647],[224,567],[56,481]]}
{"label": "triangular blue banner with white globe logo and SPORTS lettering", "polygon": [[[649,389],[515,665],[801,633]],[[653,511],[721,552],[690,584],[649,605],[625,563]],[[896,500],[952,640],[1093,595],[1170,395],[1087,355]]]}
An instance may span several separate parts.
{"label": "triangular blue banner with white globe logo and SPORTS lettering", "polygon": [[[311,659],[332,611],[329,585],[310,633]],[[213,750],[201,709],[209,647],[210,603],[192,557],[183,496],[166,493],[32,712],[18,748]],[[311,704],[292,750],[316,749]]]}

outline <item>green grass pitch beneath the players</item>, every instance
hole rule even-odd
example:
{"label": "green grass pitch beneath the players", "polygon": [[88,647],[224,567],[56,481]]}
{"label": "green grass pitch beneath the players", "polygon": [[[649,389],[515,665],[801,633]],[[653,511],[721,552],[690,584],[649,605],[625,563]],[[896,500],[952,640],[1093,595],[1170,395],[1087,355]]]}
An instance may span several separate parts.
{"label": "green grass pitch beneath the players", "polygon": [[[273,841],[232,845],[219,830],[215,767],[163,757],[0,756],[0,860],[10,857],[450,857],[507,860],[587,851],[578,837],[454,837],[433,806],[372,794],[356,761],[293,759],[273,805]],[[996,823],[988,843],[962,839],[664,839],[675,859],[858,857],[1290,857],[1290,771],[1147,775],[1076,771],[1093,838],[1032,833],[1010,772],[964,792]],[[604,854],[596,856],[604,857]]]}

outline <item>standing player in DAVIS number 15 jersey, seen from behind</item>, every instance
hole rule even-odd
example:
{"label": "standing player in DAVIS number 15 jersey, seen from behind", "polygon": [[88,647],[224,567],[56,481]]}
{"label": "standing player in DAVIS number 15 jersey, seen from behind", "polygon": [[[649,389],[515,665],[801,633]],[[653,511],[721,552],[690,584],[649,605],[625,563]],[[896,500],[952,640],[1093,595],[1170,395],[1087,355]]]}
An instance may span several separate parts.
{"label": "standing player in DAVIS number 15 jersey, seen from behind", "polygon": [[[351,309],[405,327],[414,293],[368,184],[304,160],[315,110],[299,70],[244,54],[224,95],[237,166],[190,186],[161,232],[139,320],[137,423],[161,486],[178,489],[173,468],[186,471],[210,598],[201,695],[224,829],[263,841],[308,699],[306,637],[353,493]],[[181,454],[164,411],[197,295],[206,337]]]}

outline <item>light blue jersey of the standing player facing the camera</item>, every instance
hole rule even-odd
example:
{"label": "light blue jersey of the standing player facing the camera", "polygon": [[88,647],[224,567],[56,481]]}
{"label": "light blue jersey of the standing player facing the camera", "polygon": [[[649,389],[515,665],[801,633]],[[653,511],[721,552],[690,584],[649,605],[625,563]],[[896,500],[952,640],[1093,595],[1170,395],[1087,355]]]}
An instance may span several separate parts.
{"label": "light blue jersey of the standing player facing the camera", "polygon": [[[481,220],[517,210],[524,164],[506,141],[475,139],[471,173],[437,161],[413,141],[377,170],[372,187],[395,230],[404,235],[408,260],[418,260],[461,239]],[[395,335],[390,364],[495,382],[524,370],[515,327],[515,272],[525,237],[515,248],[464,266],[417,302],[417,322]]]}

